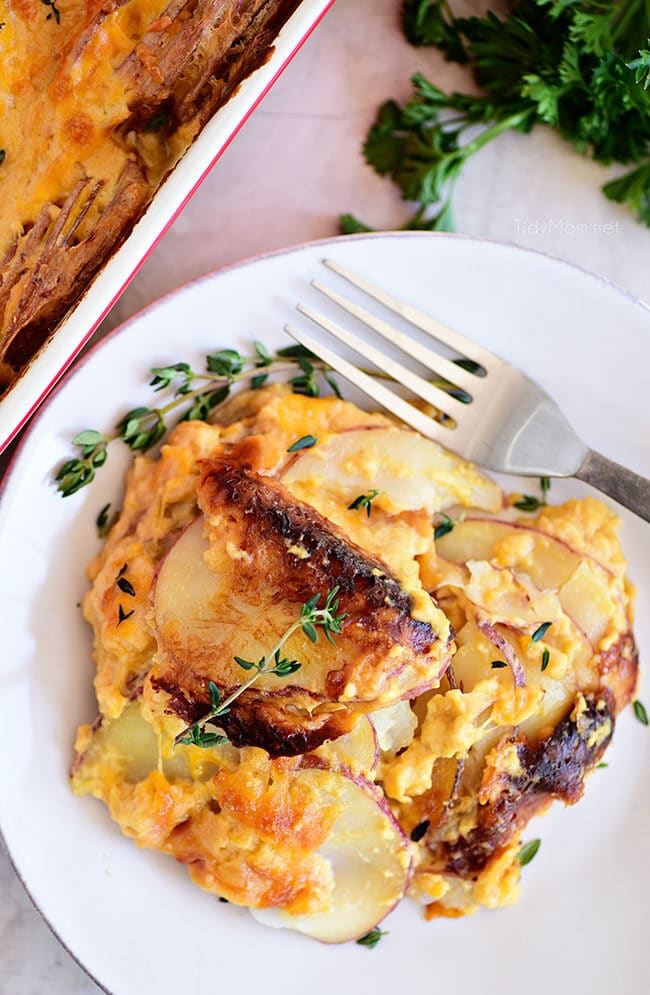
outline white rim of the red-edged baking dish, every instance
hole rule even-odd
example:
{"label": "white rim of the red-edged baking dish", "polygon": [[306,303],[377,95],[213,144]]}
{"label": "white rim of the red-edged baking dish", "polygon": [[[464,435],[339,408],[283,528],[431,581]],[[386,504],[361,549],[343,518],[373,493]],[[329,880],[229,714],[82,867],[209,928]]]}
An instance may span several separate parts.
{"label": "white rim of the red-edged baking dish", "polygon": [[88,341],[122,291],[273,86],[334,0],[302,0],[278,34],[268,62],[216,112],[153,197],[130,236],[102,267],[28,368],[0,400],[0,453]]}

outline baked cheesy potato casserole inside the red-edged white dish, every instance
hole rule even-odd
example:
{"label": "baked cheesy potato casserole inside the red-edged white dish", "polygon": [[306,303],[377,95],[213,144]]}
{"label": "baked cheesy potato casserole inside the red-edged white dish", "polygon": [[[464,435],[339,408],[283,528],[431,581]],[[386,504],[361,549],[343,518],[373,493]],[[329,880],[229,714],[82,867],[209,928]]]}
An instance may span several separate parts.
{"label": "baked cheesy potato casserole inside the red-edged white dish", "polygon": [[0,403],[299,3],[1,0]]}

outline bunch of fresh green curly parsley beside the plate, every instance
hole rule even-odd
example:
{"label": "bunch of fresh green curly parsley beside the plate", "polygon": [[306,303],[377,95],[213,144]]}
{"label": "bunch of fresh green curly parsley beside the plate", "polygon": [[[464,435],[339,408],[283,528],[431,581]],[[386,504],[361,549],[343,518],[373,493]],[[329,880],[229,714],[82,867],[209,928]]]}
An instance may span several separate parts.
{"label": "bunch of fresh green curly parsley beside the plate", "polygon": [[[453,230],[467,160],[536,124],[597,162],[634,164],[603,192],[650,227],[650,0],[516,0],[505,16],[469,18],[447,0],[405,0],[402,26],[413,45],[468,64],[484,91],[445,93],[416,73],[410,100],[380,108],[364,154],[418,205],[404,228]],[[371,229],[345,214],[341,230]]]}

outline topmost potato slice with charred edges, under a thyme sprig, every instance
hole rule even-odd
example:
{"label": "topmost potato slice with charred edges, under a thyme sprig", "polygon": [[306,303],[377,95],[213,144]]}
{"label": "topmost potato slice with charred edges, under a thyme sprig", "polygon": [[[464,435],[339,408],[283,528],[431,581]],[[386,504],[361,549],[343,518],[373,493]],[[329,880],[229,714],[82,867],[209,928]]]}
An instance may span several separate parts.
{"label": "topmost potato slice with charred edges, under a thyme sprig", "polygon": [[186,720],[206,714],[208,681],[224,696],[239,687],[234,658],[259,660],[304,602],[334,586],[342,632],[332,644],[291,637],[283,652],[300,670],[262,676],[237,699],[222,721],[235,745],[305,753],[348,732],[360,713],[437,686],[450,630],[426,592],[403,589],[382,560],[246,467],[207,462],[198,494],[205,517],[167,554],[154,589],[151,681],[173,710]]}

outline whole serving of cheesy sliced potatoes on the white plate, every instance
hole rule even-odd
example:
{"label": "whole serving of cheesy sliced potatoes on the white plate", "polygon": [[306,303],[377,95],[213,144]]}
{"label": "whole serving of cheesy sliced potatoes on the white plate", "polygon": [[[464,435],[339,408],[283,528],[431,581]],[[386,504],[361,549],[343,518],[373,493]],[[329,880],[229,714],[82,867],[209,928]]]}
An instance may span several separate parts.
{"label": "whole serving of cheesy sliced potatoes on the white plate", "polygon": [[[634,695],[617,526],[591,497],[522,514],[336,398],[272,386],[183,422],[136,458],[90,565],[99,717],[74,791],[202,888],[320,940],[364,936],[407,895],[429,918],[510,904],[526,823],[580,798]],[[214,745],[178,742],[332,589],[331,641],[298,627],[299,669],[259,674],[205,726]]]}

